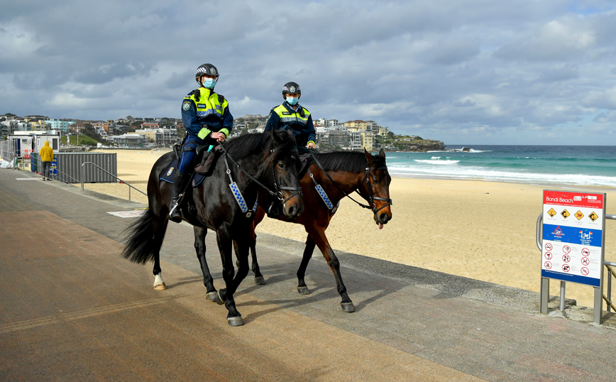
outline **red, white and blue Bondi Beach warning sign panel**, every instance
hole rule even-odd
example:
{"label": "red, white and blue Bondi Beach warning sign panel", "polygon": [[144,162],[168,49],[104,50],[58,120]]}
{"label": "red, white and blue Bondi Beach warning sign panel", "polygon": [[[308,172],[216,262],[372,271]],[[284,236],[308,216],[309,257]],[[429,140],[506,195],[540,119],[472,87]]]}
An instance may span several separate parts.
{"label": "red, white and blue Bondi Beach warning sign panel", "polygon": [[604,216],[605,194],[544,190],[541,277],[598,287]]}

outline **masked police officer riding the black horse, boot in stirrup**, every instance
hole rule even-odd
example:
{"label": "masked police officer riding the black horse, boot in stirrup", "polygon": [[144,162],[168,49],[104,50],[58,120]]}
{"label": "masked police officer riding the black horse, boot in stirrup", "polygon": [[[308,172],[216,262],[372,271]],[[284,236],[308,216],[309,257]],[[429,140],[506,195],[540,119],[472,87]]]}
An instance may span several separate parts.
{"label": "masked police officer riding the black horse, boot in stirrup", "polygon": [[199,89],[193,90],[182,102],[182,121],[186,138],[182,144],[182,155],[177,164],[173,193],[169,205],[169,219],[182,222],[179,203],[180,192],[185,190],[194,170],[198,145],[215,145],[229,137],[233,129],[233,116],[229,112],[229,102],[221,94],[214,92],[219,72],[214,65],[203,64],[197,67],[194,79]]}

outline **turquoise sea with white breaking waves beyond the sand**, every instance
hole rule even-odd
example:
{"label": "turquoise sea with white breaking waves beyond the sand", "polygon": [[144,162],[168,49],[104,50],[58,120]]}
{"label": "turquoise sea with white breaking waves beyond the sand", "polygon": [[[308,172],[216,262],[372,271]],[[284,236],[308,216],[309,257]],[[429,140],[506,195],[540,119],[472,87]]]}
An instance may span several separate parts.
{"label": "turquoise sea with white breaking waves beyond the sand", "polygon": [[387,153],[387,168],[406,178],[616,189],[616,146],[447,145],[446,151]]}

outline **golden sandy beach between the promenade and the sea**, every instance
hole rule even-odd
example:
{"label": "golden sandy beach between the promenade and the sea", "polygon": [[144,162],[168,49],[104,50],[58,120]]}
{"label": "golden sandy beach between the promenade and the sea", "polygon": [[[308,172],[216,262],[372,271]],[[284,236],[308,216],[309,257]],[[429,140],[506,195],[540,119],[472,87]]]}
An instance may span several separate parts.
{"label": "golden sandy beach between the promenade and the sea", "polygon": [[[104,152],[117,153],[118,177],[145,192],[152,165],[167,151]],[[84,187],[128,199],[128,187],[119,183]],[[558,189],[475,180],[393,178],[392,221],[382,230],[370,211],[343,200],[326,232],[334,250],[539,292],[541,252],[535,232],[546,188]],[[607,214],[616,214],[616,207],[610,205],[616,200],[616,190],[594,191],[607,193]],[[135,190],[131,199],[147,204],[147,198]],[[614,224],[608,220],[605,229],[608,261],[616,261],[616,235],[609,234]],[[267,218],[256,231],[306,239],[302,226]],[[319,256],[317,252],[314,256]],[[559,282],[552,280],[550,289],[552,295],[559,295]],[[576,299],[578,305],[592,307],[593,293],[592,287],[567,283],[566,297]]]}

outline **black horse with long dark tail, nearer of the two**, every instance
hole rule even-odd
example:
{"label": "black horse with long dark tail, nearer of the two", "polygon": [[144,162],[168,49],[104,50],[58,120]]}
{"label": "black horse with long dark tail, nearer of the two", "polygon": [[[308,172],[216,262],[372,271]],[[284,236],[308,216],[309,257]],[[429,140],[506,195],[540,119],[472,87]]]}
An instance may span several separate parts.
{"label": "black horse with long dark tail, nearer of the two", "polygon": [[[293,219],[302,213],[304,204],[297,179],[299,155],[295,137],[290,131],[274,130],[233,138],[224,143],[223,151],[211,175],[192,188],[194,212],[190,214],[182,209],[182,219],[194,227],[194,248],[204,273],[207,298],[219,304],[224,303],[229,310],[229,324],[240,326],[243,320],[236,309],[233,293],[249,270],[248,245],[253,236],[255,214],[247,206],[255,205],[258,195],[269,193],[282,202],[284,216]],[[167,229],[172,191],[172,184],[160,178],[175,159],[175,153],[170,152],[161,156],[153,165],[148,179],[149,208],[126,228],[126,247],[122,253],[124,258],[135,263],[154,261],[155,289],[165,289],[160,269],[160,247]],[[275,190],[270,190],[272,188]],[[236,198],[234,195],[238,194],[241,196]],[[205,261],[204,239],[207,229],[216,231],[222,259],[226,288],[218,292]],[[238,264],[235,275],[233,242],[236,243]]]}

